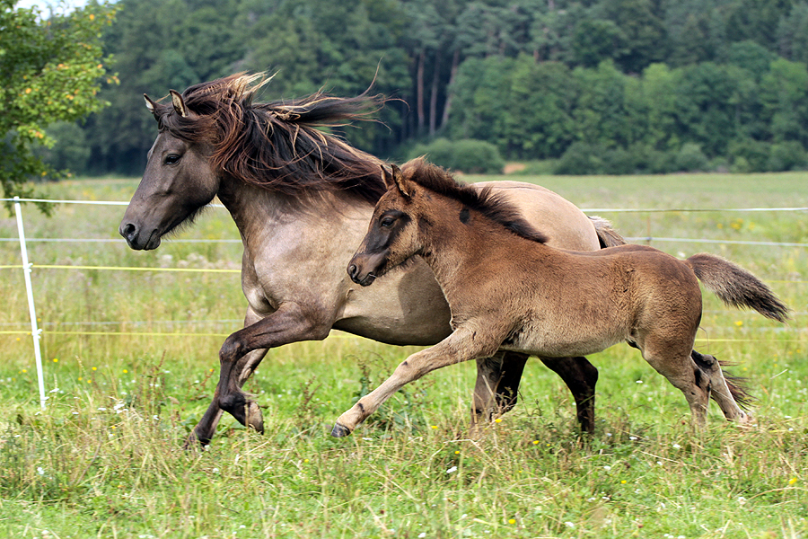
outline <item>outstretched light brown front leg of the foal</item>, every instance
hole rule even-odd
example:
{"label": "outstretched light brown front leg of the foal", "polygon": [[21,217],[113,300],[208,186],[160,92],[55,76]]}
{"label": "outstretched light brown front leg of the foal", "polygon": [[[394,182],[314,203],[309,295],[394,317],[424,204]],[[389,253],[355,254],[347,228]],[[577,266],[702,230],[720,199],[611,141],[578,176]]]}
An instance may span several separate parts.
{"label": "outstretched light brown front leg of the foal", "polygon": [[469,359],[493,356],[501,340],[490,337],[486,339],[481,337],[480,333],[481,331],[458,328],[434,347],[421,350],[402,361],[379,387],[359,399],[350,410],[339,416],[334,428],[331,429],[331,436],[348,436],[393,393],[435,369]]}

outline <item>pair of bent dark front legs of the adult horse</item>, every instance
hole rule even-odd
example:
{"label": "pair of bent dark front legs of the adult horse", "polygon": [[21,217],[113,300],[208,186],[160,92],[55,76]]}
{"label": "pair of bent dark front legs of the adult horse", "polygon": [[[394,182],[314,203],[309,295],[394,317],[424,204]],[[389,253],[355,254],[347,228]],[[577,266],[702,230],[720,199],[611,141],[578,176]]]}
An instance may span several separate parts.
{"label": "pair of bent dark front legs of the adult horse", "polygon": [[[233,415],[242,425],[263,432],[263,417],[256,402],[242,391],[242,385],[259,366],[268,349],[300,340],[323,340],[331,323],[325,310],[316,305],[293,302],[281,304],[277,311],[260,318],[224,341],[219,350],[219,382],[213,402],[199,420],[186,446],[206,445],[215,434],[222,411]],[[250,314],[248,314],[248,321]]]}

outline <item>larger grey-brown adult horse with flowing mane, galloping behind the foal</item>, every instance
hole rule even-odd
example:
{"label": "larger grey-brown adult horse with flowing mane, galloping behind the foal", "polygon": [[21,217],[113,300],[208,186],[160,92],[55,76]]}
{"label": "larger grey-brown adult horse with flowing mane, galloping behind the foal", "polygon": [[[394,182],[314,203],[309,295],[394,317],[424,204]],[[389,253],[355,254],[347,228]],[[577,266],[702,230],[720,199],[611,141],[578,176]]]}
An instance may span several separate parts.
{"label": "larger grey-brown adult horse with flowing mane, galloping behind the foal", "polygon": [[[423,261],[378,287],[356,287],[345,273],[385,191],[382,162],[318,127],[367,118],[382,100],[317,93],[254,102],[266,82],[239,74],[171,91],[170,104],[144,96],[159,130],[120,234],[132,249],[155,249],[218,196],[244,246],[244,328],[224,341],[213,401],[189,446],[209,443],[224,411],[263,431],[259,406],[242,385],[268,349],[322,340],[332,328],[397,345],[433,345],[451,332],[449,307]],[[512,181],[493,189],[551,244],[594,251],[622,243],[608,223],[549,190]],[[513,407],[526,360],[502,351],[478,361],[473,421]],[[585,358],[542,360],[569,386],[581,428],[591,431],[597,369]]]}

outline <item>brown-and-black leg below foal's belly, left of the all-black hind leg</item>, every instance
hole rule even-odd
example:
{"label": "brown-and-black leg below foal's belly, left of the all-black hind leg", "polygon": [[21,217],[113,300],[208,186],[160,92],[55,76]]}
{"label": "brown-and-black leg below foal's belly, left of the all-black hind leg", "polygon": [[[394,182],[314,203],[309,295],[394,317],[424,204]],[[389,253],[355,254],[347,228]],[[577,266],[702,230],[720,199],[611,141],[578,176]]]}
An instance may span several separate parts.
{"label": "brown-and-black leg below foal's belly, left of the all-black hind leg", "polygon": [[516,405],[519,382],[529,356],[516,352],[497,352],[491,358],[477,360],[477,384],[471,407],[471,424],[487,422],[496,413],[505,413]]}

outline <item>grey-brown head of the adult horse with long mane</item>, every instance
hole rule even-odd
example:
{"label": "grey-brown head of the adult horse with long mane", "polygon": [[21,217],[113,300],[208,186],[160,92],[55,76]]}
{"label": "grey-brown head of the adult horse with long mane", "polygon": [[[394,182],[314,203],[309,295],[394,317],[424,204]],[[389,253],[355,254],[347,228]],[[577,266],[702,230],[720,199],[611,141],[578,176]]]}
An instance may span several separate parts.
{"label": "grey-brown head of the adult horse with long mane", "polygon": [[219,189],[219,177],[209,159],[210,143],[199,137],[200,126],[194,125],[200,117],[173,90],[171,105],[144,97],[160,130],[119,227],[129,247],[136,250],[156,249],[162,236],[195,216]]}

